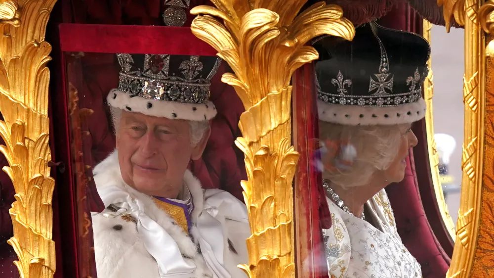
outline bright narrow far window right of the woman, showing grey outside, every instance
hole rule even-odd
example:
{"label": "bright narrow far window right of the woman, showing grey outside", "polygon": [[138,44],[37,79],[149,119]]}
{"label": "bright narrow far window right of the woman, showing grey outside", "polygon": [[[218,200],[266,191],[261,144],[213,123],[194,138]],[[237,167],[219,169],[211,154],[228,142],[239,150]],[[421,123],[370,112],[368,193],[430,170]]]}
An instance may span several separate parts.
{"label": "bright narrow far window right of the woman, showing grey outside", "polygon": [[463,103],[462,92],[464,30],[452,28],[448,34],[443,26],[433,25],[430,40],[434,79],[431,82],[433,88],[425,88],[425,93],[429,98],[433,96],[433,109],[430,109],[430,116],[426,118],[430,131],[429,148],[433,151],[429,151],[429,154],[435,160],[431,160],[431,171],[436,191],[442,189],[444,198],[440,194],[436,196],[439,208],[444,210],[446,227],[454,238],[462,183],[463,126],[472,126],[464,119],[464,106],[468,105],[467,100]]}

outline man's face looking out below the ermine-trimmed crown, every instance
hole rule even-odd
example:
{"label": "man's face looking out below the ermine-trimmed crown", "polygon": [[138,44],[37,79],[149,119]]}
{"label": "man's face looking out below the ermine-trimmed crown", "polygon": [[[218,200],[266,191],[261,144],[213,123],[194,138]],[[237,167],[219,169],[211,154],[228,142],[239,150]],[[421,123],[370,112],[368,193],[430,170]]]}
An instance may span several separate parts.
{"label": "man's face looking out below the ermine-trimmed crown", "polygon": [[116,146],[125,183],[148,195],[176,198],[197,153],[190,141],[187,121],[123,111]]}

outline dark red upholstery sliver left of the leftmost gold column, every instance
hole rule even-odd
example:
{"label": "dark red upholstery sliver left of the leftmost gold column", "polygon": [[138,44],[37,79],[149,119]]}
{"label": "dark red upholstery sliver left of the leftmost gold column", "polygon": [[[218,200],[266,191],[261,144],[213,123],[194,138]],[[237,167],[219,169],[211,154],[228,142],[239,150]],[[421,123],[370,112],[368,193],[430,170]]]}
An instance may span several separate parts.
{"label": "dark red upholstery sliver left of the leftmost gold column", "polygon": [[[3,140],[0,139],[0,144]],[[0,154],[0,169],[8,166],[7,160],[3,154]],[[13,264],[17,260],[17,255],[7,240],[14,235],[12,229],[12,219],[8,210],[12,207],[14,199],[14,186],[12,181],[3,171],[0,171],[0,277],[1,278],[18,278],[17,267]]]}

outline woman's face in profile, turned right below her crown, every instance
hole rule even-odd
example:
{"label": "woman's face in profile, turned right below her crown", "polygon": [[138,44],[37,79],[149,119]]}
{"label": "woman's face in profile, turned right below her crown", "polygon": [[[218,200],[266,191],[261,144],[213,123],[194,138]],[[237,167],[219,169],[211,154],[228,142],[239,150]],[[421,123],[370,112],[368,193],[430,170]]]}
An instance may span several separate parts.
{"label": "woman's face in profile, turned right below her crown", "polygon": [[396,157],[390,167],[383,171],[384,178],[389,183],[398,183],[405,178],[405,168],[407,167],[407,157],[410,148],[418,143],[417,137],[412,132],[412,127],[408,127],[401,133],[401,142]]}

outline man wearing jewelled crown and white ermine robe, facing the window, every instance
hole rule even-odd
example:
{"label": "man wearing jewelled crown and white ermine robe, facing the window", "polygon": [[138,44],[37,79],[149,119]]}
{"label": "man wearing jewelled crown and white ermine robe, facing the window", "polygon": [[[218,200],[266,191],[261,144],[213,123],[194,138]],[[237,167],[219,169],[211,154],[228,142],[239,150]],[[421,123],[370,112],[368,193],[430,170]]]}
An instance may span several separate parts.
{"label": "man wearing jewelled crown and white ermine robe, facing the window", "polygon": [[94,168],[106,209],[92,213],[98,277],[245,277],[246,206],[187,170],[216,115],[215,57],[118,54],[107,97],[116,149]]}

